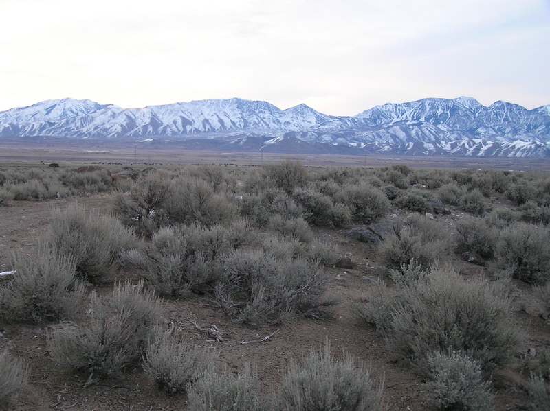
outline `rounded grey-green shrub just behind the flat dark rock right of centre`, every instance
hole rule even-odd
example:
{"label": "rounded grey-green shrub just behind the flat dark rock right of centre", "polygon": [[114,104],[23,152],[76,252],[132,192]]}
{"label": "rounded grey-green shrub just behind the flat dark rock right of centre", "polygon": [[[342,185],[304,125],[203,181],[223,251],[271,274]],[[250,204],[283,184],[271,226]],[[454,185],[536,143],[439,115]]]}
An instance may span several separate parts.
{"label": "rounded grey-green shrub just behind the flat dark rock right of centre", "polygon": [[390,202],[384,193],[366,183],[345,186],[339,202],[346,204],[353,220],[362,224],[371,224],[390,211]]}

